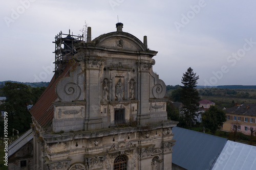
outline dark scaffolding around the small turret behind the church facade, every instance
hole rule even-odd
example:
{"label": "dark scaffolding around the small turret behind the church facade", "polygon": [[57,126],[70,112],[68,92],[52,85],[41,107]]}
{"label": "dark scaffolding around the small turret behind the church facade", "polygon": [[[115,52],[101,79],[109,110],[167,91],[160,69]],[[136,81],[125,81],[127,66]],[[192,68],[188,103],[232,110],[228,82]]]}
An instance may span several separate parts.
{"label": "dark scaffolding around the small turret behind the church facade", "polygon": [[72,56],[76,54],[76,51],[73,47],[73,44],[77,42],[83,41],[83,35],[70,35],[69,34],[63,34],[61,31],[59,34],[55,36],[55,69],[53,72],[55,72],[55,79],[61,74],[63,69],[65,68],[67,62],[69,62],[72,59]]}

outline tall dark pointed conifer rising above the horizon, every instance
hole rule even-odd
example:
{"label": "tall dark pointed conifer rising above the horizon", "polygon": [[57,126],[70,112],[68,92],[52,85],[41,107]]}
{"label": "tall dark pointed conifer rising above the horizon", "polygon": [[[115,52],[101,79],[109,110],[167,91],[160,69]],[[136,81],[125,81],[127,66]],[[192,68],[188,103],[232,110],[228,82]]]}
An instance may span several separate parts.
{"label": "tall dark pointed conifer rising above the horizon", "polygon": [[183,113],[186,124],[188,127],[192,127],[192,123],[196,121],[195,117],[198,115],[196,111],[198,111],[199,106],[199,93],[196,89],[197,80],[199,76],[196,76],[196,73],[193,72],[193,69],[189,67],[183,77],[181,79],[181,102],[183,104]]}

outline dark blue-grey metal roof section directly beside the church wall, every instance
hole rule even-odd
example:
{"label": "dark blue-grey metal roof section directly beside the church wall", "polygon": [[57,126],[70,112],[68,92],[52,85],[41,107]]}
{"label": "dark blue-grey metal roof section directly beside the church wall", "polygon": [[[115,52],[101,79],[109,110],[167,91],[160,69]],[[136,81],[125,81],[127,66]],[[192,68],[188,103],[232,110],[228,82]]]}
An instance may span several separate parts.
{"label": "dark blue-grey metal roof section directly beside the church wall", "polygon": [[218,157],[227,139],[183,129],[173,128],[176,143],[172,162],[188,170],[209,169]]}

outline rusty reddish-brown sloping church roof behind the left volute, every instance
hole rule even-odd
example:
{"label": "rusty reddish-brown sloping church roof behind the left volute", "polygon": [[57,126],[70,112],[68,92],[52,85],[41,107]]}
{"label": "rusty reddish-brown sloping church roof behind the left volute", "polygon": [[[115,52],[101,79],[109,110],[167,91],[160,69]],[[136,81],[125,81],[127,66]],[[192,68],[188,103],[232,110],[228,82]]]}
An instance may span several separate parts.
{"label": "rusty reddish-brown sloping church roof behind the left volute", "polygon": [[41,94],[35,105],[29,110],[34,120],[36,120],[42,129],[47,129],[52,124],[54,110],[52,103],[57,100],[57,95],[55,93],[57,82],[61,78],[67,77],[69,71],[75,67],[76,64],[73,66],[68,64],[59,77],[55,79],[55,76],[53,76],[45,91]]}

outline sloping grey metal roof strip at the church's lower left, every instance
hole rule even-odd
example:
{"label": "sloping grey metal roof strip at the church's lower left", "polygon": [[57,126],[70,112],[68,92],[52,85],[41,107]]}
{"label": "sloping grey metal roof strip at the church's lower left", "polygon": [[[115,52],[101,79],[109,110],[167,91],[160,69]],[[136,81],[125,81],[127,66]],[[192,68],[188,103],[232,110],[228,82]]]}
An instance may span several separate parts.
{"label": "sloping grey metal roof strip at the church's lower left", "polygon": [[33,139],[32,129],[29,129],[22,136],[17,138],[14,142],[8,146],[8,158],[16,153],[20,148],[24,147],[30,140]]}

